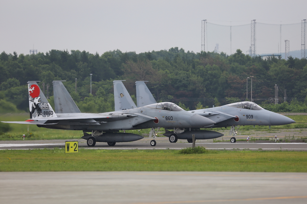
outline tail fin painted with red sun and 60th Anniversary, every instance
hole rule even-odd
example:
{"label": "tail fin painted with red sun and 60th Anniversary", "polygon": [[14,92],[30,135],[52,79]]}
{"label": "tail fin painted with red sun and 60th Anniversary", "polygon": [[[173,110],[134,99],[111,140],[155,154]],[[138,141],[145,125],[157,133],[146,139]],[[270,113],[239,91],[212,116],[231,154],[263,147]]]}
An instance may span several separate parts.
{"label": "tail fin painted with red sun and 60th Anniversary", "polygon": [[36,81],[28,81],[28,93],[30,118],[56,117],[56,113],[53,111]]}

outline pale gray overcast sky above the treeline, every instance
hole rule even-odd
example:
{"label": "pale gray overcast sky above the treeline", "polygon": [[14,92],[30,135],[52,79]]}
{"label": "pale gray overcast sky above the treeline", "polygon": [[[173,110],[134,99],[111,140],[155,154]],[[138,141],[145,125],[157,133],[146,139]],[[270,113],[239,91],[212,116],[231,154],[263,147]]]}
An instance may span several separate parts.
{"label": "pale gray overcast sky above the treeline", "polygon": [[[97,51],[99,54],[119,49],[140,53],[168,50],[175,46],[185,51],[199,52],[201,20],[223,25],[230,25],[230,21],[231,25],[250,24],[253,19],[272,24],[280,24],[280,21],[282,24],[301,23],[307,18],[306,11],[305,0],[1,0],[0,52],[29,54],[33,44],[34,49],[44,53],[52,49]],[[225,36],[229,37],[229,33]],[[300,40],[300,33],[292,38]],[[250,44],[248,39],[250,34],[244,42],[247,45]],[[219,43],[218,39],[210,40],[215,44],[214,41]],[[221,47],[223,45],[220,44]],[[209,51],[212,49],[214,47],[208,47]],[[233,49],[232,53],[235,51]],[[242,50],[246,52],[244,46]],[[296,46],[291,47],[291,40],[290,50],[296,50]],[[226,52],[229,54],[230,51]]]}

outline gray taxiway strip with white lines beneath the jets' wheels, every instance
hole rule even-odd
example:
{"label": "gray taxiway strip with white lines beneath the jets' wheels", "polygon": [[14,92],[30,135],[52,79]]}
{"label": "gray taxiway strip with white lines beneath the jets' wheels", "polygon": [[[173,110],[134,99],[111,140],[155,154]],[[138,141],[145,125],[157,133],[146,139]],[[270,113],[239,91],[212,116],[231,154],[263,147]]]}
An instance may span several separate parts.
{"label": "gray taxiway strip with white lines beneath the jets' wheels", "polygon": [[[108,146],[107,143],[96,143],[95,147],[87,147],[86,140],[79,139],[79,147],[84,149],[183,149],[192,147],[192,143],[187,140],[178,139],[177,143],[170,143],[167,137],[156,138],[157,145],[150,146],[152,138],[143,138],[134,142],[116,143],[115,146]],[[0,150],[3,149],[34,149],[34,148],[64,148],[67,140],[18,140],[18,141],[0,141]],[[76,141],[76,140],[68,140]],[[196,140],[196,146],[202,146],[212,150],[297,150],[307,151],[307,143],[268,143],[268,141],[250,142],[238,141],[236,143],[219,142],[208,143],[207,140]]]}

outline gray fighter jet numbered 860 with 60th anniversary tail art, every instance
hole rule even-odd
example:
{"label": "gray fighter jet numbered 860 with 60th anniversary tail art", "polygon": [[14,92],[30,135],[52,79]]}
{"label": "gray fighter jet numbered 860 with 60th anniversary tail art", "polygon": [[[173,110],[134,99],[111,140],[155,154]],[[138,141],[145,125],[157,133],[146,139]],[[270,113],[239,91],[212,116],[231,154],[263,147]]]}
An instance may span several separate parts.
{"label": "gray fighter jet numbered 860 with 60th anniversary tail art", "polygon": [[[61,90],[62,93],[58,95],[65,93],[66,89],[57,89],[60,92]],[[157,127],[180,129],[215,124],[210,119],[189,113],[171,102],[107,113],[80,113],[76,107],[62,106],[62,110],[57,107],[57,112],[66,109],[68,113],[55,113],[36,81],[28,82],[28,92],[30,118],[26,121],[4,121],[5,123],[35,124],[38,127],[50,129],[82,130],[84,132],[82,138],[87,140],[89,147],[95,146],[96,142],[107,142],[108,145],[114,146],[116,142],[130,142],[143,138],[140,135],[119,132],[120,130]],[[56,100],[62,99],[57,98]],[[66,97],[66,99],[70,101],[70,105],[73,105],[71,97]],[[59,104],[63,105],[63,102],[60,101]],[[87,134],[87,132],[91,132],[91,134]],[[150,144],[155,146],[156,141],[152,140]]]}

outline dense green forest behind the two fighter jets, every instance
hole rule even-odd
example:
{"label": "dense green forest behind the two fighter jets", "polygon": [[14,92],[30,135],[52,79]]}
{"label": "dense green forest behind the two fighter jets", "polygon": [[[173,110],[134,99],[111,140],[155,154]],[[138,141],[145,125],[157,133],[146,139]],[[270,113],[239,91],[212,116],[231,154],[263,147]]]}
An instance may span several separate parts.
{"label": "dense green forest behind the two fighter jets", "polygon": [[[92,95],[90,94],[92,74]],[[196,109],[245,101],[271,110],[295,111],[306,106],[307,59],[288,60],[260,56],[250,57],[241,50],[230,56],[214,52],[185,52],[178,47],[136,54],[113,50],[99,55],[79,50],[51,50],[31,55],[0,54],[0,113],[29,111],[27,81],[49,85],[53,104],[52,80],[66,80],[65,87],[83,112],[114,110],[113,80],[124,82],[135,100],[135,81],[147,80],[157,101],[171,101],[184,108]],[[247,81],[247,77],[250,79]],[[75,92],[75,81],[77,90]],[[274,85],[279,87],[279,104],[274,98]],[[286,90],[286,103],[284,101]],[[291,106],[291,102],[293,107]],[[292,107],[292,108],[291,108]],[[306,112],[306,108],[301,109]]]}

